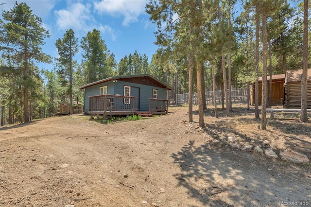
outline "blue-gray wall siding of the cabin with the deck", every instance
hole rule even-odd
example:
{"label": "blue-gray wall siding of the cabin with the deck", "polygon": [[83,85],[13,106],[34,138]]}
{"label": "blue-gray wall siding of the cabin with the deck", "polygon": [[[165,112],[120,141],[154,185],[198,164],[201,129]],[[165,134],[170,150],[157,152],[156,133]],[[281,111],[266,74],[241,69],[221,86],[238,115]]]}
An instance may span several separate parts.
{"label": "blue-gray wall siding of the cabin with the deck", "polygon": [[[103,84],[98,84],[95,86],[90,86],[85,88],[85,111],[89,111],[89,96],[96,96],[100,93],[100,87],[107,86],[107,92],[111,95],[124,95],[124,86],[130,87],[138,87],[139,88],[139,111],[149,111],[149,99],[152,98],[152,90],[157,89],[158,91],[158,99],[166,99],[166,89],[161,87],[155,86],[147,86],[142,84],[136,83],[129,83],[124,81],[117,81],[117,82],[106,82]],[[132,96],[132,94],[131,94]]]}

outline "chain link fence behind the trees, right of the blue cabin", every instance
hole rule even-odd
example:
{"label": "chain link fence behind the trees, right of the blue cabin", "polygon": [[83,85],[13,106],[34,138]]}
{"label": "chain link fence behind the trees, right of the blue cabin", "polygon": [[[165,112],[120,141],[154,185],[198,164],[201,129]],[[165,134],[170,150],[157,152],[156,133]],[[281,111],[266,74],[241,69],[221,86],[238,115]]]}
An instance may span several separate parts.
{"label": "chain link fence behind the trees, right of the blue cabin", "polygon": [[[214,104],[213,91],[206,91],[206,104]],[[247,103],[247,88],[231,89],[231,100],[232,103]],[[189,93],[176,94],[176,104],[188,104]],[[222,91],[216,91],[216,102],[217,104],[222,103]],[[193,104],[198,104],[198,93],[193,93],[192,98]]]}

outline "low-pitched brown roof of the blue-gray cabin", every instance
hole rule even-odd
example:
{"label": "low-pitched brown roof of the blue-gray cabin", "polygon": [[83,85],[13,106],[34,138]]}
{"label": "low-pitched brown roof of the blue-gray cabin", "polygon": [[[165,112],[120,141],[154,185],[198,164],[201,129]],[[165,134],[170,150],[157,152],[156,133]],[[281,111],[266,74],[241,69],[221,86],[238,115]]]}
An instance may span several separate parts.
{"label": "low-pitched brown roof of the blue-gray cabin", "polygon": [[84,88],[87,88],[89,86],[94,86],[94,85],[97,85],[97,84],[102,84],[102,83],[105,83],[105,82],[108,82],[108,81],[122,80],[122,79],[129,79],[129,78],[140,78],[140,77],[141,78],[143,78],[143,77],[150,78],[153,81],[155,81],[157,84],[159,84],[161,87],[163,87],[163,88],[165,88],[167,90],[173,90],[173,88],[171,86],[168,86],[168,85],[162,83],[160,80],[156,79],[155,77],[153,77],[152,75],[149,75],[149,74],[112,76],[112,77],[105,78],[105,79],[100,80],[100,81],[96,81],[96,82],[93,82],[93,83],[86,84],[84,86],[79,87],[78,89],[84,89]]}

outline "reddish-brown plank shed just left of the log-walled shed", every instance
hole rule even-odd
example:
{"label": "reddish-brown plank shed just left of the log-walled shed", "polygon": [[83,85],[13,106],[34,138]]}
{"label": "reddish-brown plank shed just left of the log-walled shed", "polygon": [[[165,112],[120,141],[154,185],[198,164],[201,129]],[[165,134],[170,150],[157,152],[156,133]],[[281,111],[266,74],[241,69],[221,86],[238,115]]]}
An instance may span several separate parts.
{"label": "reddish-brown plank shed just left of the log-walled shed", "polygon": [[[268,90],[267,95],[268,99],[270,97],[270,86],[269,86],[270,76],[267,76]],[[262,88],[262,77],[258,79],[259,91],[258,91],[258,104],[261,104],[261,88]],[[284,83],[285,83],[285,74],[272,75],[272,105],[281,105],[283,104],[284,98]],[[251,86],[251,104],[255,104],[255,83]]]}

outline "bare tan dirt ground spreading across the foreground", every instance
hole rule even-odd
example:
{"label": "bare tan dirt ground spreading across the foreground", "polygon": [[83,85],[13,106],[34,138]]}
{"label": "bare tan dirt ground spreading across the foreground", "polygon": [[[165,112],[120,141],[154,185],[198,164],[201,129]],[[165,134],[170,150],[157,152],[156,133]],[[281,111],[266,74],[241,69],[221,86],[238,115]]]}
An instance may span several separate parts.
{"label": "bare tan dirt ground spreading across the foreground", "polygon": [[72,115],[1,127],[0,206],[311,206],[310,163],[243,152],[214,138],[267,139],[278,153],[299,152],[311,149],[311,124],[279,113],[267,131],[258,130],[245,107],[234,106],[229,118],[219,110],[219,119],[208,109],[206,129],[197,111],[187,121],[187,107],[114,124]]}

